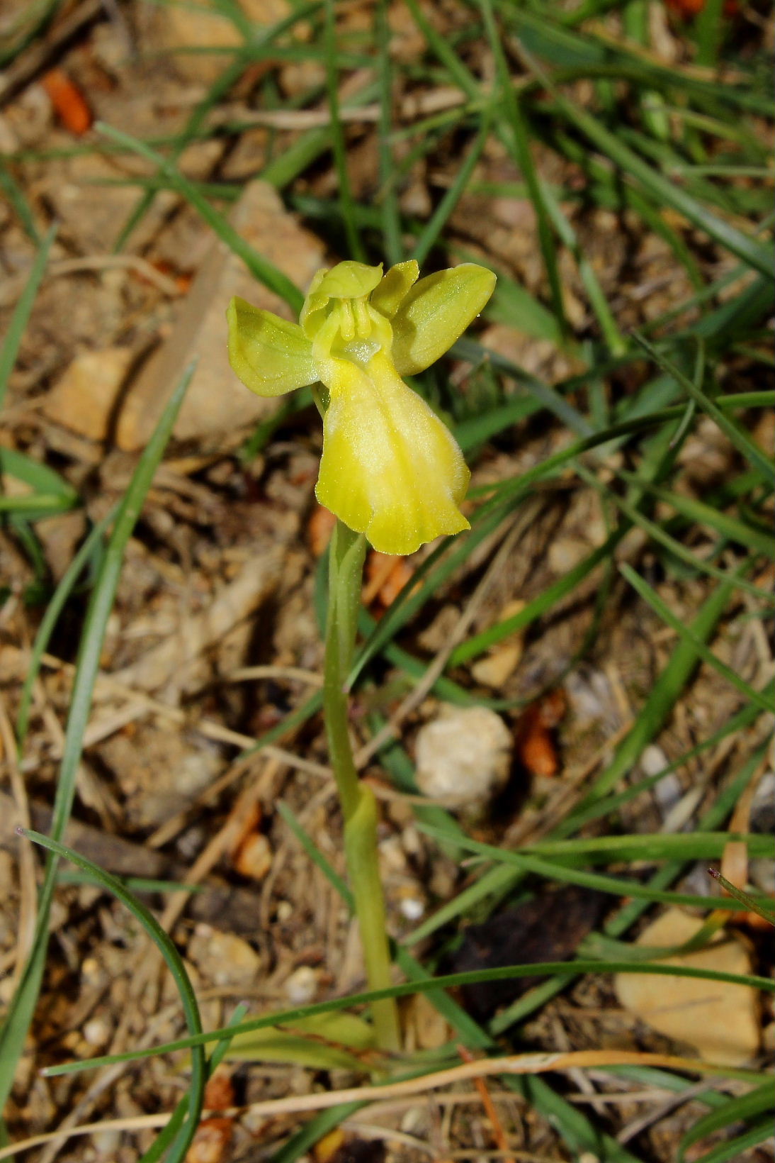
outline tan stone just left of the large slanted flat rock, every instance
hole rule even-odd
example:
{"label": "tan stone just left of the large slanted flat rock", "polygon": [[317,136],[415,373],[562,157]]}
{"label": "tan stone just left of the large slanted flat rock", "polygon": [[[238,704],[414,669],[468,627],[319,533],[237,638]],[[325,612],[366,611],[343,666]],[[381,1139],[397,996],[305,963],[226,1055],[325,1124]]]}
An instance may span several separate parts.
{"label": "tan stone just left of the large slanted flat rock", "polygon": [[129,348],[103,348],[76,356],[45,400],[43,409],[49,420],[87,440],[107,440],[131,361]]}

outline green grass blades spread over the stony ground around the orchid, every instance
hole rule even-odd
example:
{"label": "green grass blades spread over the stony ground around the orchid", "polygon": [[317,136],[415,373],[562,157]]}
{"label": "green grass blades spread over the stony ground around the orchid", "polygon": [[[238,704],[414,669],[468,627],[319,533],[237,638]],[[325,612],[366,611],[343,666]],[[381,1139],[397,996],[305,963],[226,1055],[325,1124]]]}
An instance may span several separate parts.
{"label": "green grass blades spread over the stony ground around the orchid", "polygon": [[[41,20],[48,19],[52,6],[38,7]],[[620,13],[624,40],[603,33],[605,14],[611,9]],[[472,379],[480,377],[476,383],[481,398],[478,395],[472,404],[469,398],[455,397],[438,371],[417,379],[418,391],[453,418],[461,447],[474,468],[491,449],[518,457],[523,448],[533,447],[537,434],[544,441],[544,452],[528,466],[515,468],[511,476],[495,485],[473,490],[471,533],[433,547],[416,572],[416,586],[407,587],[381,620],[364,614],[359,652],[350,676],[353,692],[371,694],[383,679],[386,668],[397,672],[404,688],[423,680],[428,659],[415,644],[415,632],[439,604],[466,600],[474,552],[488,538],[497,536],[498,530],[508,528],[539,491],[550,498],[573,498],[594,490],[605,518],[603,544],[590,545],[586,557],[564,576],[531,592],[518,614],[469,633],[453,650],[433,693],[466,705],[483,702],[503,711],[518,707],[530,692],[512,699],[485,697],[472,683],[471,664],[515,633],[526,635],[529,642],[540,642],[541,634],[565,616],[569,604],[586,602],[591,608],[594,595],[589,597],[589,587],[603,577],[595,629],[580,641],[565,670],[581,662],[604,662],[612,620],[626,618],[633,611],[648,626],[652,638],[661,630],[665,643],[651,687],[627,692],[633,711],[629,732],[590,775],[561,822],[539,841],[518,851],[502,851],[497,846],[469,837],[460,821],[444,809],[417,808],[417,822],[425,829],[429,844],[457,852],[461,859],[472,856],[476,859],[468,865],[467,883],[457,896],[440,902],[433,915],[394,944],[406,984],[392,992],[397,996],[426,992],[458,1041],[471,1050],[496,1054],[519,1049],[525,1039],[525,1022],[548,1006],[557,993],[572,987],[582,973],[605,978],[615,971],[674,972],[703,980],[735,980],[772,991],[773,983],[765,968],[749,977],[676,970],[658,961],[646,964],[633,961],[631,944],[646,914],[653,915],[668,905],[710,907],[709,898],[682,891],[680,880],[696,859],[719,861],[730,839],[725,829],[735,804],[766,755],[763,716],[773,706],[772,682],[762,686],[756,676],[739,673],[726,652],[730,635],[744,625],[744,616],[760,619],[766,626],[773,619],[767,570],[773,561],[775,468],[768,451],[752,434],[775,404],[773,392],[759,387],[761,364],[769,362],[772,366],[767,321],[772,309],[774,251],[769,237],[772,217],[767,216],[772,192],[766,187],[775,171],[762,142],[772,135],[775,104],[760,83],[755,57],[740,47],[734,26],[725,20],[718,0],[708,0],[702,16],[676,35],[682,37],[689,62],[694,59],[711,71],[719,64],[729,65],[734,74],[732,81],[719,81],[681,60],[660,64],[650,42],[640,0],[624,3],[584,0],[575,8],[481,0],[467,5],[465,31],[451,36],[439,30],[425,6],[407,0],[407,10],[424,44],[411,60],[387,51],[392,38],[387,0],[376,6],[372,28],[344,33],[333,0],[295,5],[287,19],[268,29],[252,28],[231,5],[223,10],[234,20],[242,43],[177,137],[141,140],[105,126],[99,140],[64,151],[132,155],[146,163],[145,177],[127,179],[127,185],[139,187],[137,202],[127,221],[117,224],[116,240],[108,240],[108,244],[115,242],[117,249],[131,245],[134,231],[157,193],[173,191],[242,258],[256,279],[297,311],[304,288],[294,286],[252,250],[229,222],[229,207],[239,190],[221,176],[211,181],[192,180],[180,163],[186,148],[194,142],[210,140],[216,134],[231,143],[239,141],[249,128],[246,124],[235,122],[216,130],[209,117],[249,70],[261,65],[253,87],[256,106],[280,108],[277,67],[288,60],[322,62],[331,124],[292,137],[277,135],[266,165],[257,177],[284,193],[332,254],[369,263],[415,256],[429,266],[459,259],[491,265],[500,281],[486,312],[487,321],[511,326],[540,341],[555,356],[572,359],[571,372],[544,379],[488,351],[474,331],[455,345],[453,355],[476,369]],[[307,30],[304,40],[296,37],[300,26]],[[15,35],[20,40],[12,56],[23,52],[26,37],[40,35],[40,29],[37,26],[29,31],[21,29]],[[487,80],[479,70],[482,59],[488,62]],[[342,84],[353,70],[359,70],[358,87],[343,97]],[[393,104],[396,93],[436,88],[459,93],[459,102],[416,123],[396,122]],[[294,107],[311,107],[321,95],[320,86],[310,87],[294,99]],[[340,114],[345,107],[372,104],[376,105],[379,116],[376,185],[373,197],[369,193],[359,200],[351,145],[360,134],[374,133],[374,124],[356,130]],[[57,154],[62,156],[63,151]],[[37,248],[0,352],[0,401],[53,243],[53,229],[46,231],[46,223],[41,221],[24,191],[19,166],[30,156],[31,151],[27,151],[0,159],[0,186],[10,212]],[[42,149],[35,156],[38,165],[45,165],[55,151]],[[493,179],[487,160],[493,156],[504,159],[509,177]],[[402,209],[402,186],[415,164],[425,165],[430,173],[443,171],[446,179],[443,187],[435,188],[432,209],[424,220]],[[316,193],[309,185],[321,167],[330,167],[336,176],[330,197]],[[480,254],[461,231],[458,215],[472,194],[517,198],[531,204],[536,223],[532,245],[540,266],[538,288],[523,286],[504,256]],[[630,322],[631,304],[626,297],[632,288],[611,290],[597,256],[584,250],[584,226],[588,215],[597,212],[612,213],[619,223],[626,221],[627,230],[636,236],[659,238],[667,255],[662,262],[673,264],[667,274],[686,280],[686,295],[655,315],[644,315],[637,331]],[[574,294],[583,308],[584,320],[580,326],[572,322],[573,315],[569,317],[565,285],[568,270],[574,273]],[[730,295],[733,284],[737,290]],[[30,697],[41,656],[58,620],[72,608],[76,586],[79,582],[82,585],[84,575],[91,571],[89,609],[81,630],[65,755],[51,836],[46,841],[52,854],[63,855],[57,846],[72,812],[74,776],[100,644],[113,608],[123,550],[163,455],[179,398],[180,393],[141,461],[120,509],[92,529],[59,586],[49,593],[42,614],[19,711],[20,748],[29,735]],[[243,459],[249,463],[292,418],[295,424],[300,423],[299,416],[299,409],[289,405],[277,423],[270,421],[257,429],[243,450]],[[698,492],[691,484],[688,450],[699,431],[708,431],[709,424],[726,442],[732,468],[723,480]],[[45,564],[35,522],[77,507],[81,498],[55,465],[15,449],[0,449],[0,469],[3,477],[13,477],[26,486],[23,495],[12,490],[0,497],[0,519],[28,554],[30,566],[43,577]],[[639,549],[634,557],[622,561],[623,545],[634,535],[640,537]],[[681,587],[689,614],[672,606],[670,595]],[[711,676],[722,684],[724,706],[731,709],[697,727],[690,745],[662,771],[645,780],[633,780],[645,748],[662,737],[677,705],[691,709],[702,683],[710,682]],[[314,722],[318,707],[320,698],[315,695],[257,740],[256,747],[301,722]],[[371,729],[376,733],[383,721],[382,714],[373,713]],[[702,814],[693,821],[694,832],[632,835],[622,827],[622,813],[636,797],[658,787],[675,772],[691,772],[694,764],[712,759],[716,749],[730,742],[734,743],[734,758],[715,779]],[[412,761],[401,740],[387,744],[378,758],[397,787],[415,790]],[[350,908],[349,886],[318,849],[315,837],[304,832],[289,809],[280,807],[278,815]],[[752,856],[772,854],[769,837],[749,836],[745,842]],[[646,878],[636,876],[644,861],[648,862]],[[85,868],[82,861],[81,866]],[[56,872],[57,861],[52,855],[40,890],[38,927],[30,963],[0,1035],[3,1100],[40,997]],[[103,887],[123,900],[149,934],[155,933],[152,916],[125,885],[93,868],[88,872],[98,880],[102,877]],[[467,921],[481,920],[539,885],[564,884],[603,891],[611,902],[601,932],[590,937],[575,961],[436,977],[442,952],[455,941]],[[624,902],[624,898],[630,899]],[[712,904],[726,912],[739,907],[734,898],[712,899]],[[216,1043],[216,1054],[222,1055],[235,1032],[258,1029],[279,1019],[292,1021],[300,1014],[365,1004],[371,997],[329,1000],[250,1021],[238,1014],[228,1027],[201,1032],[195,1027],[195,997],[185,969],[175,959],[177,951],[158,933],[156,936],[180,989],[189,1036],[146,1050],[130,1047],[125,1054],[88,1063],[65,1063],[50,1073],[138,1061],[209,1043]],[[421,949],[422,959],[416,955]],[[509,975],[539,975],[545,980],[488,1026],[475,1022],[449,992],[464,982],[495,980]],[[145,1160],[182,1157],[214,1057],[206,1062],[203,1051],[195,1051],[188,1093]],[[443,1064],[452,1061],[451,1050]],[[417,1064],[404,1065],[407,1070],[418,1069]],[[632,1068],[627,1077],[676,1091],[687,1085],[682,1075],[670,1071],[639,1075]],[[730,1071],[729,1077],[735,1077],[735,1072]],[[765,1082],[755,1070],[744,1077],[749,1089],[735,1096],[713,1090],[698,1096],[705,1113],[676,1144],[680,1160],[696,1151],[697,1144],[706,1148],[699,1156],[703,1163],[745,1158],[744,1153],[766,1137],[775,1107],[772,1080]],[[623,1147],[603,1129],[593,1110],[587,1112],[567,1101],[557,1079],[507,1076],[502,1084],[518,1091],[548,1120],[572,1154],[591,1151],[601,1163],[637,1163],[648,1157],[645,1139]],[[274,1163],[295,1163],[353,1110],[350,1104],[313,1116],[274,1154]],[[726,1137],[706,1142],[709,1136],[719,1134]]]}

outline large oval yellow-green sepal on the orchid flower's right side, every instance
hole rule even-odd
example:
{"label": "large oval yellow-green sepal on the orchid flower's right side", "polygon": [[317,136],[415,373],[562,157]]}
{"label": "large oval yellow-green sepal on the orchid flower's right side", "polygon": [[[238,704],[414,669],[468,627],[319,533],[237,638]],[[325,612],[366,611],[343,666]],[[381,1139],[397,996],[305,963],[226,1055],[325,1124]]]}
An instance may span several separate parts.
{"label": "large oval yellow-green sepal on the orchid flower's right side", "polygon": [[421,279],[392,320],[392,355],[399,374],[416,376],[449,351],[494,290],[495,274],[475,263]]}

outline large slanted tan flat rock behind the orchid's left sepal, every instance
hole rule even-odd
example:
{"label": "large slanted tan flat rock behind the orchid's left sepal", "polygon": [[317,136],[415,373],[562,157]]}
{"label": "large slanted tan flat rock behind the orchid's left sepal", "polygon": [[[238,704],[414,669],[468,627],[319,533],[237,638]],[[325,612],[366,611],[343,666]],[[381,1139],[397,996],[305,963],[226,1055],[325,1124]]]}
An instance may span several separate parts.
{"label": "large slanted tan flat rock behind the orchid's left sepal", "polygon": [[[277,191],[253,181],[237,202],[231,224],[264,258],[300,288],[324,265],[322,242],[288,213]],[[129,390],[119,416],[120,448],[144,447],[185,368],[198,365],[178,415],[180,440],[217,440],[220,435],[272,415],[278,399],[253,395],[239,383],[227,356],[225,309],[232,295],[290,319],[287,305],[245,270],[225,243],[216,241],[180,305],[172,331]]]}

